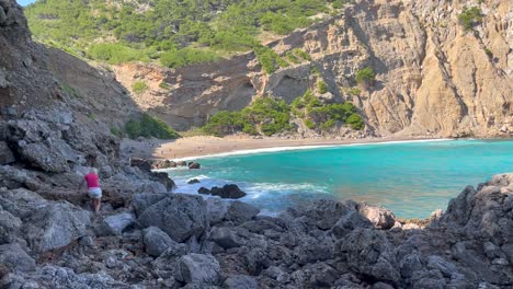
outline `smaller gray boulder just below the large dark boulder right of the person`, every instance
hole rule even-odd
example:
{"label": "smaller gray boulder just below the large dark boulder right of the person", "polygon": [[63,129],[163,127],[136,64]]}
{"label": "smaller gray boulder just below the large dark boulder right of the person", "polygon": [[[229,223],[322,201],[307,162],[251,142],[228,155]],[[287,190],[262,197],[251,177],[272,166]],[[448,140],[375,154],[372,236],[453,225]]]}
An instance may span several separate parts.
{"label": "smaller gray boulder just below the large dark boulder right of the person", "polygon": [[146,253],[152,257],[160,256],[169,248],[173,248],[173,252],[182,252],[182,255],[185,254],[186,250],[185,244],[176,243],[157,227],[145,229],[142,242],[145,243]]}

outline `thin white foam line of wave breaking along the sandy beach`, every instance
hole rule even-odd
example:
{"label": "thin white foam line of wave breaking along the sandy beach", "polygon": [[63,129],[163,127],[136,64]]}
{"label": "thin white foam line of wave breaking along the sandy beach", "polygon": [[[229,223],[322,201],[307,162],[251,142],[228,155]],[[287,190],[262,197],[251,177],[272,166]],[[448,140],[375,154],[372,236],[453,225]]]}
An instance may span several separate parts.
{"label": "thin white foam line of wave breaking along the sandy beach", "polygon": [[212,153],[212,154],[197,155],[197,157],[186,157],[186,158],[180,158],[180,159],[172,159],[172,161],[190,161],[190,160],[212,159],[212,158],[230,157],[230,155],[255,154],[255,153],[280,152],[280,151],[292,151],[292,150],[311,150],[311,149],[338,148],[338,147],[361,147],[361,146],[452,141],[452,140],[454,139],[441,138],[441,139],[415,139],[415,140],[390,140],[390,141],[376,141],[376,142],[337,143],[337,144],[273,147],[273,148],[263,148],[263,149],[235,150],[235,151],[229,151],[229,152]]}

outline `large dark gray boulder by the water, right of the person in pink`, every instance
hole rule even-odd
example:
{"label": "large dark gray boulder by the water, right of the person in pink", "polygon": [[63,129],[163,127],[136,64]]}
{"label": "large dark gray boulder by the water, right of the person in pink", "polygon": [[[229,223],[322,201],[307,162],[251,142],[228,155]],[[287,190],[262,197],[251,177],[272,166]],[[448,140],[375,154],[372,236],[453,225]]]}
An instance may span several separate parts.
{"label": "large dark gray boulder by the water, right of the person in pink", "polygon": [[[140,208],[139,208],[140,209]],[[205,200],[200,196],[168,194],[147,207],[138,221],[144,227],[158,227],[176,242],[201,236],[209,229]]]}

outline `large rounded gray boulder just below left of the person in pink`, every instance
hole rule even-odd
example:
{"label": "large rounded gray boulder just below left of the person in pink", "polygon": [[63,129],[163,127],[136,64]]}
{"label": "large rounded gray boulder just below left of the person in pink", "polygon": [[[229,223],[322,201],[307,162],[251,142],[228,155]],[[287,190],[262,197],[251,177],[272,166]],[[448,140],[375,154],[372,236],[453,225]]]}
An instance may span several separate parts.
{"label": "large rounded gray boulder just below left of the person in pink", "polygon": [[86,234],[91,213],[69,203],[49,203],[34,208],[25,222],[25,239],[35,252],[46,252],[70,244]]}

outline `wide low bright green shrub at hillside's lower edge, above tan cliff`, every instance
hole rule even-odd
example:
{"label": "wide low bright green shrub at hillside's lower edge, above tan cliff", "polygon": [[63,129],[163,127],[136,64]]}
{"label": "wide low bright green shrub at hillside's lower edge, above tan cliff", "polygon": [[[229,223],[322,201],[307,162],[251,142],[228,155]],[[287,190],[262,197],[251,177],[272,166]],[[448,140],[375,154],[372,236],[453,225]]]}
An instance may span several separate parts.
{"label": "wide low bright green shrub at hillside's lower edge, above tan cliff", "polygon": [[170,50],[160,57],[160,63],[169,68],[181,68],[195,63],[208,63],[221,59],[216,53],[195,48]]}

